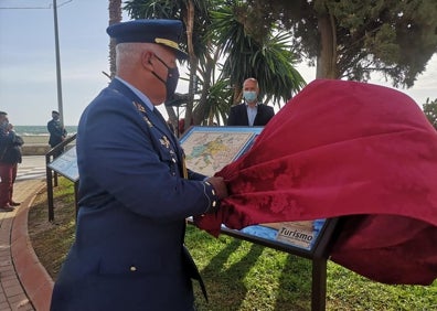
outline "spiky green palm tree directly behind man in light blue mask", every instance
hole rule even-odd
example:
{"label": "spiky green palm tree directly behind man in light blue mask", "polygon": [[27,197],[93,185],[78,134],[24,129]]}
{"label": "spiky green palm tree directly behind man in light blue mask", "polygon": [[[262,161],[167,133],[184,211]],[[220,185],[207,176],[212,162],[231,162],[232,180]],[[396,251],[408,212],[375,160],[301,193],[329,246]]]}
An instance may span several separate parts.
{"label": "spiky green palm tree directly behind man in light blue mask", "polygon": [[297,57],[289,46],[290,36],[275,24],[264,25],[255,13],[243,2],[213,12],[211,29],[222,55],[226,55],[223,75],[234,88],[234,104],[242,98],[243,82],[255,77],[260,96],[280,106],[305,86],[305,81],[292,66]]}

